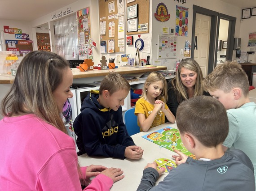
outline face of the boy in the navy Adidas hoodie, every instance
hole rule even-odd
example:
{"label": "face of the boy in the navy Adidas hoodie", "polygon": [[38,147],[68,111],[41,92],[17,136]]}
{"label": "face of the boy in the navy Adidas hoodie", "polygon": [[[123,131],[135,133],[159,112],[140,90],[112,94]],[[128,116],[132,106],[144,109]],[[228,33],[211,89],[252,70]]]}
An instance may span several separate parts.
{"label": "face of the boy in the navy Adidas hoodie", "polygon": [[118,91],[107,95],[106,108],[117,111],[120,106],[124,106],[124,99],[127,97],[129,91],[126,89],[119,89]]}

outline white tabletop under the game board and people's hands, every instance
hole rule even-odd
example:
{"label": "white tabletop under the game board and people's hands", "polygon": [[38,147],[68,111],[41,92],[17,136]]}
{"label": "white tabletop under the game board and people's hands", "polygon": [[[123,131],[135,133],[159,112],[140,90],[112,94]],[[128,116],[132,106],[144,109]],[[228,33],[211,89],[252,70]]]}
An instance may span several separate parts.
{"label": "white tabletop under the game board and people's hands", "polygon": [[[106,157],[88,157],[87,154],[83,154],[78,157],[80,166],[89,166],[91,164],[93,165],[102,165],[106,167],[115,167],[115,168],[121,168],[124,171],[125,177],[115,182],[113,187],[111,187],[111,191],[136,191],[138,185],[141,182],[142,178],[142,171],[144,170],[144,167],[147,165],[147,163],[152,163],[154,160],[159,158],[167,158],[167,159],[173,159],[172,155],[176,155],[176,153],[165,149],[157,144],[154,144],[153,142],[150,142],[149,140],[144,139],[141,136],[147,135],[150,132],[154,132],[155,130],[164,128],[164,127],[173,127],[177,128],[176,123],[164,123],[162,125],[159,125],[157,127],[151,128],[148,132],[140,132],[132,136],[132,139],[134,140],[134,143],[137,146],[140,146],[142,149],[144,149],[144,154],[140,160],[130,160],[130,159],[118,159],[118,158],[106,158]],[[163,178],[168,173],[163,173],[159,177],[159,181],[162,181]],[[156,183],[156,184],[157,184]]]}

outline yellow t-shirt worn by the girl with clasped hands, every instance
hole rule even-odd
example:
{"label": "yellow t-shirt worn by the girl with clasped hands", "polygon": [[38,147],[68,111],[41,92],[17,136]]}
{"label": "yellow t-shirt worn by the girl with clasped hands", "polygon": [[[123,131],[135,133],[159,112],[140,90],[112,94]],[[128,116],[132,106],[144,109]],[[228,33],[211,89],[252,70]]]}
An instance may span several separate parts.
{"label": "yellow t-shirt worn by the girl with clasped hands", "polygon": [[[165,109],[168,109],[168,106],[165,103]],[[144,114],[146,119],[148,118],[148,116],[151,114],[152,110],[154,109],[154,105],[150,104],[149,102],[145,101],[145,99],[140,98],[135,105],[135,112],[134,114]],[[138,126],[140,127],[139,122],[137,121]],[[152,123],[152,125],[150,126],[150,128],[161,125],[164,123],[164,113],[162,110],[159,110],[154,118],[154,121]],[[141,127],[140,127],[141,130]],[[142,131],[142,130],[141,130]]]}

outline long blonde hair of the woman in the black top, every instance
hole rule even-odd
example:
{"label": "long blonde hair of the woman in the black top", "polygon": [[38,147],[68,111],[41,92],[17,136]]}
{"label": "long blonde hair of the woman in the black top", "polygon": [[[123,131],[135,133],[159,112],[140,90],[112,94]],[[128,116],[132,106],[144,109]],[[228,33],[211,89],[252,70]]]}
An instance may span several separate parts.
{"label": "long blonde hair of the woman in the black top", "polygon": [[178,103],[181,103],[183,100],[189,99],[187,89],[181,82],[181,68],[183,68],[183,67],[197,73],[196,82],[194,85],[193,97],[203,95],[203,87],[201,85],[201,83],[203,81],[202,70],[201,70],[199,64],[194,59],[186,58],[186,59],[183,59],[181,61],[181,63],[179,64],[176,76],[171,82],[173,89],[176,92]]}

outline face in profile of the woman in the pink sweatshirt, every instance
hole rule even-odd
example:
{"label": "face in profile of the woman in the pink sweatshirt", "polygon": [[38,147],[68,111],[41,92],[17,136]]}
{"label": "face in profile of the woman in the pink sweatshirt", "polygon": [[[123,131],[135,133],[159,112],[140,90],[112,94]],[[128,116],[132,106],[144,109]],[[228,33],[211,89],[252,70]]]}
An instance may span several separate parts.
{"label": "face in profile of the woman in the pink sweatshirt", "polygon": [[62,112],[64,103],[66,102],[67,98],[73,97],[73,93],[70,91],[70,86],[73,83],[73,74],[70,68],[64,69],[63,72],[62,83],[53,92],[53,96],[57,102],[60,112]]}

